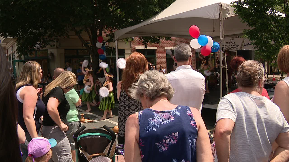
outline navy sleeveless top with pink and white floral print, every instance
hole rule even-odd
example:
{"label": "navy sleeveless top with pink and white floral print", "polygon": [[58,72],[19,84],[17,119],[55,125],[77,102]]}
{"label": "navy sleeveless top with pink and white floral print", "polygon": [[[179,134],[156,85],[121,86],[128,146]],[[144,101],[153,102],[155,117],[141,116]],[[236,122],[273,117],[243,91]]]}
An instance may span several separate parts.
{"label": "navy sleeveless top with pink and white floral print", "polygon": [[142,162],[197,161],[198,129],[191,109],[144,109],[139,112],[139,147]]}

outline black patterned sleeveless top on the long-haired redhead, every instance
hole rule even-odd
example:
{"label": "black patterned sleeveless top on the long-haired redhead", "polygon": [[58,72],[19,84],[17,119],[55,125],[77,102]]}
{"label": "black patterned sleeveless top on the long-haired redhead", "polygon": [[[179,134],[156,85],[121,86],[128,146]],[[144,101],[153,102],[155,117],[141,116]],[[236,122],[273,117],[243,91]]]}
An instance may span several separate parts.
{"label": "black patterned sleeveless top on the long-haired redhead", "polygon": [[138,111],[143,110],[140,100],[132,99],[121,90],[118,104],[118,135],[124,137],[127,118]]}

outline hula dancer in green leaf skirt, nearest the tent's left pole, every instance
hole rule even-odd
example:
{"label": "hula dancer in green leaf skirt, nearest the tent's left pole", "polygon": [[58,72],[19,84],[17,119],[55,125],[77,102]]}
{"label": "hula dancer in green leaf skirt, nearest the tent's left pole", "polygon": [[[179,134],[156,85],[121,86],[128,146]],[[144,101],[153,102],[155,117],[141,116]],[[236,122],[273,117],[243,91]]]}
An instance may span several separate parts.
{"label": "hula dancer in green leaf skirt, nearest the tent's left pole", "polygon": [[[104,76],[106,81],[103,83],[102,88],[100,88],[100,95],[101,96],[107,96],[104,97],[101,102],[100,105],[98,107],[98,109],[104,111],[103,112],[103,117],[100,120],[104,120],[106,119],[106,114],[109,113],[109,117],[113,117],[111,109],[114,108],[114,95],[113,95],[113,86],[112,86],[112,82],[113,82],[113,75],[111,73],[106,73],[106,70],[104,71]],[[109,93],[106,95],[102,95],[102,90],[101,89],[106,89],[104,88],[106,87],[108,89],[108,92],[104,92],[104,93]],[[106,89],[106,91],[107,91]]]}

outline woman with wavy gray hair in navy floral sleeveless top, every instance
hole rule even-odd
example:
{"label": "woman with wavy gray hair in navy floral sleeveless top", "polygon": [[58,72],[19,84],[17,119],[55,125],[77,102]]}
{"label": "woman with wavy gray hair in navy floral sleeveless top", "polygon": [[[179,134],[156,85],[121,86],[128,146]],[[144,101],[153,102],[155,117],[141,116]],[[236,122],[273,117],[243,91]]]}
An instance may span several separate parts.
{"label": "woman with wavy gray hair in navy floral sleeveless top", "polygon": [[[129,89],[144,110],[127,118],[127,162],[213,161],[200,112],[169,102],[174,90],[164,74],[149,70]],[[197,151],[198,150],[198,151]]]}

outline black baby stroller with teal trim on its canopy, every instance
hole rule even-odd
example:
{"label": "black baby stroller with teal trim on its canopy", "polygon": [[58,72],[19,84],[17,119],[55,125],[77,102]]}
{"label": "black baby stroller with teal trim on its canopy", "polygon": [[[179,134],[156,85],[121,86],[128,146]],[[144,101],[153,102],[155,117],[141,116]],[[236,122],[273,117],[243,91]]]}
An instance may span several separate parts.
{"label": "black baby stroller with teal trim on its canopy", "polygon": [[84,130],[85,128],[82,126],[73,135],[76,162],[115,162],[116,141],[114,132],[106,125],[103,126],[105,130]]}

